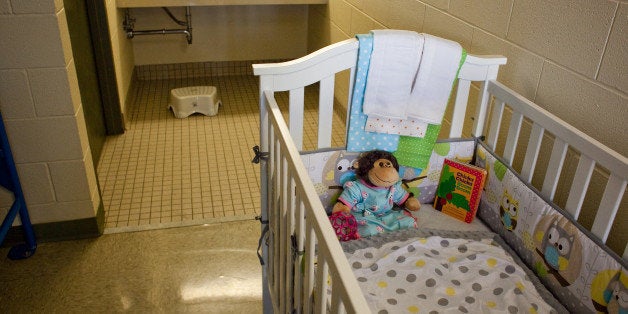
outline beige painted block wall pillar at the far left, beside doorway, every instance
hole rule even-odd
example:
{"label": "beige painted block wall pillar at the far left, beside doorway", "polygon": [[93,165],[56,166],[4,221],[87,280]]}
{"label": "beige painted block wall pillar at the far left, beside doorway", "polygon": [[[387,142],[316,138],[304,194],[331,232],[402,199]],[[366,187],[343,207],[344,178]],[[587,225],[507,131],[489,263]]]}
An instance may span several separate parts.
{"label": "beige painted block wall pillar at the far left, beside doorway", "polygon": [[[31,221],[95,217],[100,196],[63,1],[1,1],[0,41],[0,109]],[[11,203],[0,193],[2,209]]]}

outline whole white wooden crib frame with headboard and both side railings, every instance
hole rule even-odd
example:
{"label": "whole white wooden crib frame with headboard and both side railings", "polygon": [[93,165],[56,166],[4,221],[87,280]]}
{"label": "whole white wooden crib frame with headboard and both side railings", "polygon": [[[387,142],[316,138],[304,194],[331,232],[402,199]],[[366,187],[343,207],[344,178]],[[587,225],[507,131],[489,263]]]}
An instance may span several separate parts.
{"label": "whole white wooden crib frame with headboard and both side railings", "polygon": [[[300,155],[305,87],[319,84],[317,148],[329,148],[336,74],[351,71],[349,82],[345,82],[351,91],[358,48],[356,39],[348,39],[293,61],[253,65],[255,75],[260,77],[262,230],[268,229],[262,244],[265,312],[370,311]],[[591,228],[604,243],[626,190],[628,159],[497,82],[499,66],[505,63],[506,58],[501,56],[466,58],[459,72],[449,137],[461,137],[465,119],[473,117],[472,135],[486,135],[490,149],[501,145],[502,158],[512,165],[521,155],[516,148],[520,131],[528,121],[532,129],[520,175],[530,182],[542,139],[550,134],[554,142],[541,189],[550,200],[557,190],[567,151],[577,151],[580,161],[565,206],[576,218],[594,167],[607,169],[607,187]],[[469,112],[473,82],[479,94],[475,112]],[[289,91],[289,124],[275,99],[275,92],[282,91]],[[509,120],[503,124],[508,129],[501,130],[500,124],[507,117]],[[624,259],[627,257],[628,247],[623,254]]]}

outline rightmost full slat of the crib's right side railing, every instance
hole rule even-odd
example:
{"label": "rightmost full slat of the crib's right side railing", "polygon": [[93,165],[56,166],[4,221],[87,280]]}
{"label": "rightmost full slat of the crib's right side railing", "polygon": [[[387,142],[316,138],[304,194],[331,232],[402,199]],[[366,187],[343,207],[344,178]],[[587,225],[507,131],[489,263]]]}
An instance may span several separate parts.
{"label": "rightmost full slat of the crib's right side railing", "polygon": [[619,209],[619,203],[626,190],[626,180],[618,175],[611,174],[606,183],[604,195],[600,201],[600,207],[595,215],[591,232],[598,236],[602,242],[606,243],[608,233],[611,231],[615,215]]}

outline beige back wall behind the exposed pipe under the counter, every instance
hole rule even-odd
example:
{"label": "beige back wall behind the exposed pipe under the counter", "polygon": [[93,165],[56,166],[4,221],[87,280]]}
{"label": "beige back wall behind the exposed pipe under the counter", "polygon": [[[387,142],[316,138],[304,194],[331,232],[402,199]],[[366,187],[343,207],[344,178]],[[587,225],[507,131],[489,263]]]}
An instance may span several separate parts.
{"label": "beige back wall behind the exposed pipe under the counter", "polygon": [[[193,43],[184,35],[132,39],[135,65],[296,58],[306,52],[307,6],[191,7]],[[135,30],[182,28],[161,8],[133,8]],[[123,11],[123,9],[120,9]],[[183,8],[171,8],[180,20]],[[121,23],[116,24],[121,29]]]}

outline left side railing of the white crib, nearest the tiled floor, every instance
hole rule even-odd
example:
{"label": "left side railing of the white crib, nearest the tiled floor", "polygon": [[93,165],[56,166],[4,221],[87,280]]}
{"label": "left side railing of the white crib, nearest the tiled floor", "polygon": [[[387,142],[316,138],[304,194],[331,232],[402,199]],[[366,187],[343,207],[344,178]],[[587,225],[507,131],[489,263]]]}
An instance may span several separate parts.
{"label": "left side railing of the white crib, nearest the tiled floor", "polygon": [[268,113],[267,171],[272,178],[268,250],[273,253],[266,256],[269,293],[277,303],[272,307],[279,313],[368,313],[364,296],[355,293],[360,287],[348,261],[331,258],[344,253],[273,93],[263,97]]}

